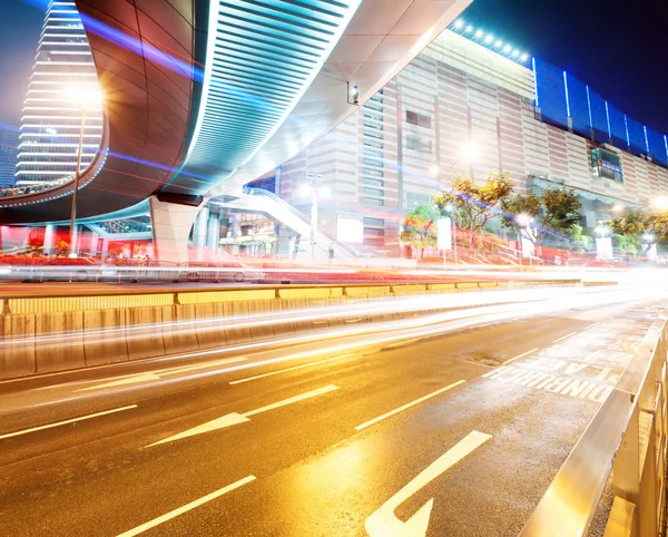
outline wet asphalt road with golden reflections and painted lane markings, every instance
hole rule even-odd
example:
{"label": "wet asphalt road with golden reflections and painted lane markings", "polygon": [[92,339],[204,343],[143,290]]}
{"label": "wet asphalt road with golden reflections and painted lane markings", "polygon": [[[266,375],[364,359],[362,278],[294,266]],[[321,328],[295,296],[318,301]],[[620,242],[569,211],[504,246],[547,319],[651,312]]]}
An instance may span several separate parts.
{"label": "wet asphalt road with golden reflections and painted lane markings", "polygon": [[1,382],[0,535],[517,535],[666,304],[570,293]]}

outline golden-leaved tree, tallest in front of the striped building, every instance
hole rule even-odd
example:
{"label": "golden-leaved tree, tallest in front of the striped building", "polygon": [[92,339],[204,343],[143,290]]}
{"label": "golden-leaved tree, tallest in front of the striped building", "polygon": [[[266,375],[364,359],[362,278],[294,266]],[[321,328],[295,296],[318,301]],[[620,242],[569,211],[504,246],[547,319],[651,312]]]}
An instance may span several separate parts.
{"label": "golden-leaved tree, tallest in front of the striped building", "polygon": [[509,174],[494,172],[485,176],[482,184],[458,175],[451,191],[434,196],[441,215],[454,218],[456,228],[462,230],[469,247],[473,247],[477,233],[494,216],[494,206],[509,196],[513,182]]}

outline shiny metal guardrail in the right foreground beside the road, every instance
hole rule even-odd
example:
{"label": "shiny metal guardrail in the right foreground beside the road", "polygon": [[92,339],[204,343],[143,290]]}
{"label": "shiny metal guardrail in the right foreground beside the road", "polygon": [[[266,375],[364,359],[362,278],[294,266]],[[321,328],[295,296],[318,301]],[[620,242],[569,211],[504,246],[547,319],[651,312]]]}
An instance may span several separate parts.
{"label": "shiny metal guardrail in the right foreground beside the road", "polygon": [[615,390],[557,473],[522,537],[589,535],[607,486],[605,537],[656,537],[666,516],[668,310],[655,321]]}

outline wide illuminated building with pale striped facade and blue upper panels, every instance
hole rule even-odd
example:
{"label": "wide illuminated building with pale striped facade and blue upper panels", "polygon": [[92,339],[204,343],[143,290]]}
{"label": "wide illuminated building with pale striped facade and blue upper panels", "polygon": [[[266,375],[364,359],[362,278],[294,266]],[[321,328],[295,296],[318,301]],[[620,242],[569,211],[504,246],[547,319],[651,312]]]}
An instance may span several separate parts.
{"label": "wide illuminated building with pale striped facade and blue upper panels", "polygon": [[[473,148],[473,150],[470,150]],[[321,174],[330,199],[320,225],[357,221],[353,246],[397,253],[406,212],[456,174],[508,172],[515,191],[567,186],[588,226],[615,205],[668,194],[668,143],[562,70],[455,22],[375,98],[281,169],[281,195],[304,213],[296,186]],[[346,224],[346,228],[350,227]]]}

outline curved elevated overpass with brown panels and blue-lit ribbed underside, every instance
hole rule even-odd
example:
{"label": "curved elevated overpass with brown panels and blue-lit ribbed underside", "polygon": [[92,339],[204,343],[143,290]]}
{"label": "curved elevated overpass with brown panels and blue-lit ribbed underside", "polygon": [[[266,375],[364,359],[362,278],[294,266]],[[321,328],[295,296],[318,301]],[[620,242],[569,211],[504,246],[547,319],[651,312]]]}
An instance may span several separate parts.
{"label": "curved elevated overpass with brown panels and blue-lit ribbed underside", "polygon": [[[348,85],[364,102],[470,1],[76,0],[107,118],[78,215],[253,180],[353,113]],[[67,219],[71,193],[0,198],[0,221]]]}

